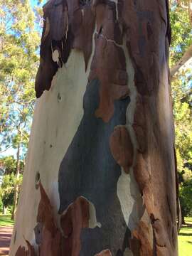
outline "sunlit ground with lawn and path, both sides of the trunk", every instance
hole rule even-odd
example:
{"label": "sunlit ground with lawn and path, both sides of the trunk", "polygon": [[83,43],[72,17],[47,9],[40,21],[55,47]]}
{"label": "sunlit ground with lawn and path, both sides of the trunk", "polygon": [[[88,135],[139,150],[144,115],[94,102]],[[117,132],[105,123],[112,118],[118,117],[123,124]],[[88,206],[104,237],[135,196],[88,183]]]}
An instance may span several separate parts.
{"label": "sunlit ground with lawn and path, both sides of the trunk", "polygon": [[[192,217],[185,220],[186,225],[183,225],[178,235],[178,256],[192,255]],[[13,225],[10,215],[0,215],[0,255],[9,255]]]}

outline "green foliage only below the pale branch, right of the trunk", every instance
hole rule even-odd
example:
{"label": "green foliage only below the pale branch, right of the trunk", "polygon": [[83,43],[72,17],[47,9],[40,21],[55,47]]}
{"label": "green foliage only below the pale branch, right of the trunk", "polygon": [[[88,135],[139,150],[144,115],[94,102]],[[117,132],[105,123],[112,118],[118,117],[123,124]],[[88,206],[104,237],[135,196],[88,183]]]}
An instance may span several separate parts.
{"label": "green foliage only below the pale branch, right of the trunk", "polygon": [[192,214],[192,112],[188,84],[181,76],[172,82],[176,132],[176,156],[181,213]]}

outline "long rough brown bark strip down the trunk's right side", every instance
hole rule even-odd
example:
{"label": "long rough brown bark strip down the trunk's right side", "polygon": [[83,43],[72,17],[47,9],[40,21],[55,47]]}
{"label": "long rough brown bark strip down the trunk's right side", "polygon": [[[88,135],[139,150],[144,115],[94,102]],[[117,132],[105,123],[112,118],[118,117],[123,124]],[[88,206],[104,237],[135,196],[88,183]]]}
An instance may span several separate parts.
{"label": "long rough brown bark strip down the trunk's right side", "polygon": [[[155,250],[165,247],[167,255],[176,255],[174,127],[165,43],[171,38],[168,1],[119,1],[119,19],[127,36],[138,92],[133,124],[138,143],[134,175],[147,213],[153,216]],[[140,255],[147,255],[146,233],[143,223],[142,228],[140,225],[133,233],[141,246]]]}

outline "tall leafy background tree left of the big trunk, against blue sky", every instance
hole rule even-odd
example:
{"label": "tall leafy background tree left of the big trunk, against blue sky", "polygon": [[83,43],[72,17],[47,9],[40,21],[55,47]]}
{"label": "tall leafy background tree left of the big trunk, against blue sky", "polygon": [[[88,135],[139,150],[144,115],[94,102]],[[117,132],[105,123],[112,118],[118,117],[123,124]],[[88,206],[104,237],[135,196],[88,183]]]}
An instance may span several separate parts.
{"label": "tall leafy background tree left of the big trunk, against blue sky", "polygon": [[[30,1],[0,1],[0,144],[16,149],[16,179],[26,153],[35,103],[33,83],[38,65],[39,32]],[[13,218],[18,185],[14,189]]]}

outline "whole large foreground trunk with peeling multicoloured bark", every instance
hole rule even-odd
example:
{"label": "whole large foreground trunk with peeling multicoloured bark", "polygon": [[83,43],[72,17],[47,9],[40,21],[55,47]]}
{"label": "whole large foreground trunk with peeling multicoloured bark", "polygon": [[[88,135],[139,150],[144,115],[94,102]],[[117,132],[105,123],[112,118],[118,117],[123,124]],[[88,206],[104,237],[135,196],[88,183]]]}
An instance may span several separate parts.
{"label": "whole large foreground trunk with peeling multicoloured bark", "polygon": [[10,255],[178,255],[167,2],[44,6]]}

